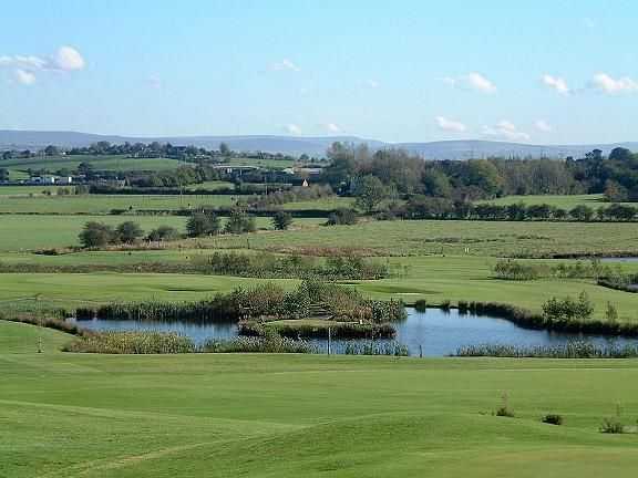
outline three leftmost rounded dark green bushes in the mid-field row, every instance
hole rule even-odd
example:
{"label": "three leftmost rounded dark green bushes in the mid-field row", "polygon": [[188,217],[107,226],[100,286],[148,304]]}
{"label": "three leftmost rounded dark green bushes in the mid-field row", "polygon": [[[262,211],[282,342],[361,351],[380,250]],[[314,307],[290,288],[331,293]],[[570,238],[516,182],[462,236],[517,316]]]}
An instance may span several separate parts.
{"label": "three leftmost rounded dark green bushes in the mid-field row", "polygon": [[[122,243],[132,245],[144,238],[144,230],[134,221],[125,221],[116,227],[104,222],[89,221],[84,225],[79,238],[80,243],[84,248],[100,248]],[[146,239],[151,241],[169,241],[179,238],[179,232],[169,226],[160,226],[146,236]]]}

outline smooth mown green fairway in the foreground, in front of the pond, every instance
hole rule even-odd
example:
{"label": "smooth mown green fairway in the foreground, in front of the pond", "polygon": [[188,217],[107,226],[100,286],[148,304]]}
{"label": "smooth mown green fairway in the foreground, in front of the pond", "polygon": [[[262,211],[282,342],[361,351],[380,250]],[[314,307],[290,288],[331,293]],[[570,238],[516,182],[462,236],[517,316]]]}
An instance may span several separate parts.
{"label": "smooth mown green fairway in the foreground, in front of the pond", "polygon": [[[0,349],[7,478],[622,478],[638,465],[636,435],[598,432],[617,405],[635,423],[637,361],[24,350]],[[515,418],[492,416],[504,393]]]}

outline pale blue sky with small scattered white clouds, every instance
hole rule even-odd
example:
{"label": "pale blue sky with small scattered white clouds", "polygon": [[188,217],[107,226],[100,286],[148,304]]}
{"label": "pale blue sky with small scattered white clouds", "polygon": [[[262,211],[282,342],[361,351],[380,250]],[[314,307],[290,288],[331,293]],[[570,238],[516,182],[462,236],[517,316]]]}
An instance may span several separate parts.
{"label": "pale blue sky with small scattered white clouds", "polygon": [[0,129],[638,141],[635,0],[2,3]]}

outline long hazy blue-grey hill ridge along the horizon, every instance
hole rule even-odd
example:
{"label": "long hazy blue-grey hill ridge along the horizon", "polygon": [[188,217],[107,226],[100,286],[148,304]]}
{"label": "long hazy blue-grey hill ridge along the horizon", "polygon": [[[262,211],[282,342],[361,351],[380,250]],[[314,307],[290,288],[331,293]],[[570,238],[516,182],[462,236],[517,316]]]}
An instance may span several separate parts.
{"label": "long hazy blue-grey hill ridge along the horizon", "polygon": [[383,143],[374,139],[364,139],[357,136],[167,136],[167,137],[135,137],[96,135],[74,132],[32,132],[0,129],[0,149],[38,149],[47,145],[62,147],[89,146],[99,141],[110,143],[151,143],[168,142],[176,146],[194,145],[205,148],[217,148],[219,143],[226,143],[231,149],[267,153],[282,153],[290,155],[308,154],[321,156],[331,143],[336,141],[354,144],[367,143],[371,149],[398,147],[418,154],[428,159],[469,159],[488,156],[505,157],[582,157],[591,149],[601,149],[605,154],[615,147],[626,147],[638,152],[638,142],[617,144],[589,145],[531,145],[522,143],[505,143],[492,141],[444,141],[430,143]]}

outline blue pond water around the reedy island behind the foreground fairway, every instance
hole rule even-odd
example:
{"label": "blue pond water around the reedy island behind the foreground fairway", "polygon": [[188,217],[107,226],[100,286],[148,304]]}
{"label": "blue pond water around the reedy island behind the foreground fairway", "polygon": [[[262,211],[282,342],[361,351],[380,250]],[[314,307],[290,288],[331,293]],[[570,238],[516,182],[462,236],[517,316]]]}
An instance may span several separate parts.
{"label": "blue pond water around the reedy island behind the foreground fairway", "polygon": [[[157,331],[176,332],[187,335],[197,344],[209,339],[231,339],[237,336],[237,325],[228,324],[192,324],[166,322],[137,322],[90,320],[79,321],[79,325],[96,331]],[[408,319],[395,324],[395,341],[408,346],[410,355],[419,355],[420,347],[424,356],[445,356],[456,352],[461,346],[484,343],[508,345],[559,345],[570,340],[589,340],[605,343],[609,337],[600,335],[566,334],[539,330],[528,330],[506,321],[491,316],[460,314],[453,309],[449,312],[440,309],[429,309],[416,312],[408,309]],[[310,341],[321,350],[327,349],[327,341]],[[638,343],[634,339],[618,339],[619,343]],[[346,341],[332,341],[332,351],[339,353]]]}

